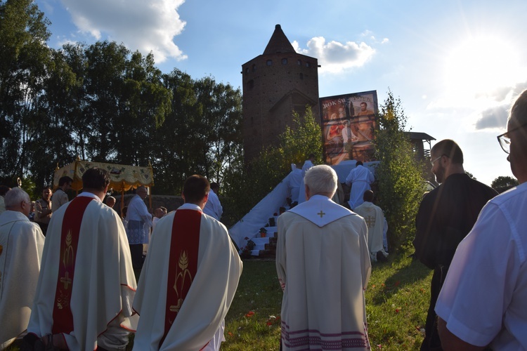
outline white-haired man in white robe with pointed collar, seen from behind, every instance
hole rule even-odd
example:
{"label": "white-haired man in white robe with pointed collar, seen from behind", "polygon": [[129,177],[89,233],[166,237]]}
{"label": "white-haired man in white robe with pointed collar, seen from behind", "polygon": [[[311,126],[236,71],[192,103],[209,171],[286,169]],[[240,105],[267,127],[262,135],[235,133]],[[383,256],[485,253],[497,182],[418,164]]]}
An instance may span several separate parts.
{"label": "white-haired man in white robe with pointed collar, seen from behind", "polygon": [[330,166],[314,166],[304,182],[307,201],[278,218],[282,350],[370,350],[366,223],[331,200],[337,173]]}

